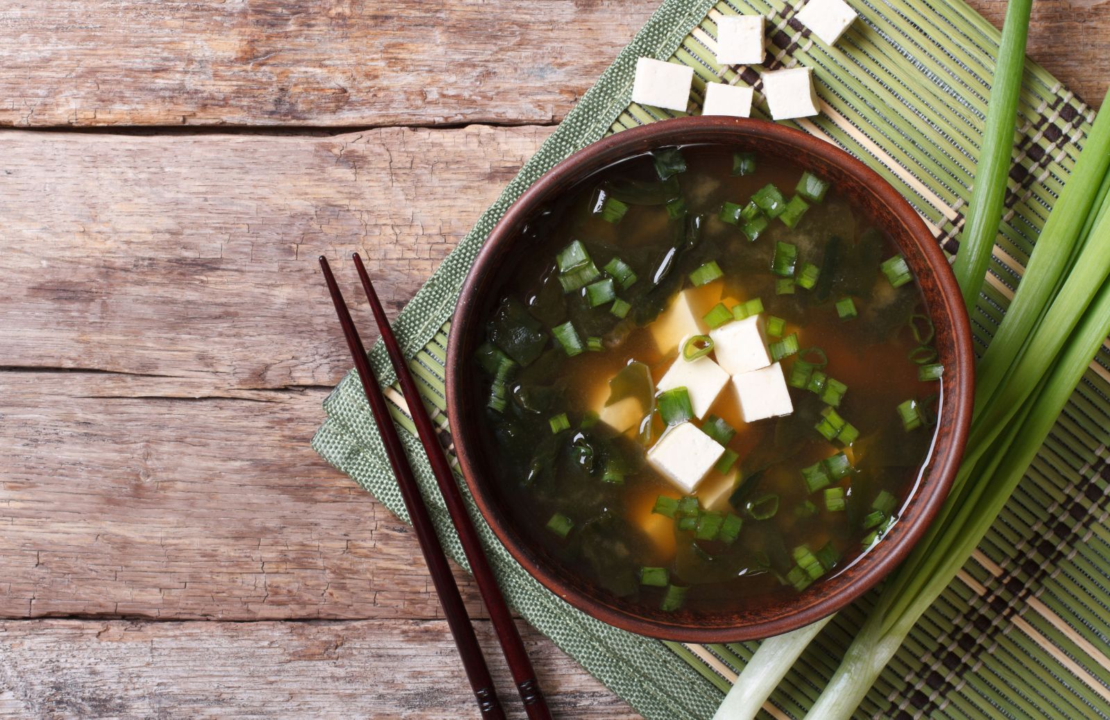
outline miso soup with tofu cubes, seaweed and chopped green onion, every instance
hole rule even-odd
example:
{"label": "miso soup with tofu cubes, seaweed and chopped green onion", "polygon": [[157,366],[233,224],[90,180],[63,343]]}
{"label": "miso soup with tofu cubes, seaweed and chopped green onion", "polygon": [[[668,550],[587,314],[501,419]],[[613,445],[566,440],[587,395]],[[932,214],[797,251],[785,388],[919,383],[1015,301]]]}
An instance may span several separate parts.
{"label": "miso soup with tofu cubes, seaweed and chopped green onion", "polygon": [[665,148],[523,233],[473,363],[519,533],[695,613],[806,592],[882,541],[944,368],[898,249],[835,184]]}

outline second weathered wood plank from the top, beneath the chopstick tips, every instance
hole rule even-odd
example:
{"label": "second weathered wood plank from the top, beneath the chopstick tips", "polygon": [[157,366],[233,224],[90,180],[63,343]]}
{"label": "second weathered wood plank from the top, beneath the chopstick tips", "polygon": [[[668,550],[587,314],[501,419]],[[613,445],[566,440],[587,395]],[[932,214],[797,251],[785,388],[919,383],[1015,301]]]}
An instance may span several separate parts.
{"label": "second weathered wood plank from the top, beneath the chopstick tips", "polygon": [[0,365],[332,385],[350,359],[316,255],[360,251],[400,310],[549,132],[0,131]]}

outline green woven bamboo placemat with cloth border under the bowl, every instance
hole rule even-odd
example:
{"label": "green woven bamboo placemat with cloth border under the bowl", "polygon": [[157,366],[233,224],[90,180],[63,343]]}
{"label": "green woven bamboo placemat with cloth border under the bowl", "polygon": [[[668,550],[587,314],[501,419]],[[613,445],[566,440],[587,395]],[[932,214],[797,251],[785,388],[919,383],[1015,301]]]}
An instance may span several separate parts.
{"label": "green woven bamboo placemat with cloth border under the bowl", "polygon": [[[662,116],[629,104],[636,58],[692,65],[697,112],[706,82],[751,85],[758,72],[720,68],[715,19],[768,19],[766,67],[815,71],[823,113],[796,124],[860,158],[921,213],[956,252],[981,139],[998,31],[961,0],[849,0],[861,19],[830,48],[793,17],[801,1],[667,0],[566,120],[521,170],[402,312],[395,329],[427,407],[446,430],[444,369],[450,316],[486,234],[548,168],[612,132]],[[1050,74],[1027,64],[1006,215],[973,332],[989,342],[1022,264],[1082,146],[1093,113]],[[372,353],[383,383],[393,374]],[[1110,353],[1104,346],[1025,481],[956,581],[907,639],[858,711],[860,718],[1110,719]],[[417,479],[447,551],[465,566],[434,490],[405,405],[386,388]],[[349,375],[324,403],[313,447],[402,519],[400,493],[362,396]],[[647,718],[713,716],[757,643],[664,643],[574,610],[516,565],[473,514],[508,601],[583,667]],[[771,697],[765,717],[799,718],[867,612],[841,612]]]}

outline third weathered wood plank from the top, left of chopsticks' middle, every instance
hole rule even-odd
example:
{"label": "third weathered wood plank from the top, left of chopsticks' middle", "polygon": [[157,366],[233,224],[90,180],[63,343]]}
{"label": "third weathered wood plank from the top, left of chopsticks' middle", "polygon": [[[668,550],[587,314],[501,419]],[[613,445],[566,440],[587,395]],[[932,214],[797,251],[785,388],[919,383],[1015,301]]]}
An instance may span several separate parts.
{"label": "third weathered wood plank from the top, left of chopsticks' middle", "polygon": [[0,617],[443,617],[407,526],[309,447],[325,388],[211,394],[0,373]]}

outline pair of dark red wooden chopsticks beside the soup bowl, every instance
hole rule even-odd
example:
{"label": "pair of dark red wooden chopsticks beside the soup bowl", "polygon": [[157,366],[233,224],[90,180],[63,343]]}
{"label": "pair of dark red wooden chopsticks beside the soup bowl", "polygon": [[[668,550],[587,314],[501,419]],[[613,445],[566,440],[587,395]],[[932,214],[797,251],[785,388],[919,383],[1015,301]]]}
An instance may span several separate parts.
{"label": "pair of dark red wooden chopsticks beside the soup bowl", "polygon": [[[413,423],[416,425],[421,443],[424,446],[424,453],[427,454],[427,459],[432,465],[432,471],[435,474],[435,480],[440,486],[440,494],[443,495],[447,513],[451,515],[451,520],[458,533],[458,539],[462,542],[463,551],[466,554],[466,559],[470,561],[478,591],[482,594],[482,599],[490,610],[490,619],[493,622],[494,630],[497,632],[497,640],[501,642],[502,652],[505,655],[509,671],[513,673],[513,681],[516,682],[516,689],[521,693],[524,709],[531,720],[551,720],[551,711],[547,709],[547,702],[544,700],[539,683],[536,681],[536,673],[532,669],[532,661],[524,649],[524,642],[522,642],[521,635],[513,622],[508,606],[505,605],[505,598],[501,595],[501,588],[497,587],[497,580],[494,578],[493,570],[490,569],[490,562],[486,560],[482,549],[477,531],[475,531],[474,525],[466,513],[463,496],[458,491],[458,486],[455,485],[455,476],[451,471],[451,465],[447,463],[443,447],[440,446],[435,428],[432,426],[432,419],[427,416],[427,410],[424,408],[424,402],[416,391],[416,383],[408,372],[408,365],[405,363],[401,346],[397,344],[396,337],[393,336],[390,321],[385,317],[385,311],[382,308],[382,303],[377,300],[377,293],[374,292],[374,285],[370,282],[370,275],[366,274],[366,267],[362,264],[359,253],[354,253],[353,258],[355,268],[359,271],[359,278],[362,280],[362,288],[366,293],[366,300],[370,301],[370,307],[374,313],[377,329],[382,334],[385,348],[389,351],[390,362],[393,363],[393,371],[397,374],[397,381],[401,383],[401,392],[405,397],[405,403],[408,405],[408,412],[412,414]],[[351,313],[343,301],[339,285],[335,284],[335,276],[332,274],[332,268],[323,255],[320,256],[320,266],[324,271],[324,280],[327,282],[332,303],[335,305],[335,314],[339,315],[340,325],[343,326],[343,335],[346,337],[347,347],[351,349],[351,356],[354,358],[354,366],[359,371],[359,378],[362,381],[362,387],[366,393],[366,400],[374,413],[374,419],[377,420],[377,429],[382,436],[382,444],[385,445],[385,452],[390,456],[390,465],[393,466],[393,474],[397,478],[401,496],[404,498],[405,507],[408,509],[408,517],[412,519],[413,528],[416,530],[416,539],[420,541],[421,551],[424,554],[424,560],[432,572],[432,582],[435,585],[435,591],[440,596],[440,602],[443,605],[447,626],[455,638],[455,645],[458,647],[458,655],[463,659],[466,677],[470,679],[471,688],[477,698],[478,709],[483,718],[504,718],[505,711],[501,707],[501,700],[498,700],[497,692],[493,687],[493,679],[490,677],[490,669],[486,667],[485,657],[482,655],[482,648],[478,646],[478,640],[474,635],[474,627],[471,625],[470,616],[466,613],[463,598],[458,595],[458,586],[455,585],[451,567],[447,565],[447,558],[443,554],[443,547],[440,545],[438,537],[436,537],[432,518],[424,506],[416,479],[413,477],[412,468],[408,466],[408,460],[405,457],[405,450],[401,445],[401,438],[393,426],[393,419],[390,417],[390,412],[385,404],[385,396],[382,395],[382,388],[379,387],[377,379],[370,367],[370,361],[366,359],[366,349],[359,337],[359,331],[354,327],[354,321],[351,320]]]}

